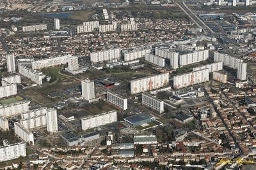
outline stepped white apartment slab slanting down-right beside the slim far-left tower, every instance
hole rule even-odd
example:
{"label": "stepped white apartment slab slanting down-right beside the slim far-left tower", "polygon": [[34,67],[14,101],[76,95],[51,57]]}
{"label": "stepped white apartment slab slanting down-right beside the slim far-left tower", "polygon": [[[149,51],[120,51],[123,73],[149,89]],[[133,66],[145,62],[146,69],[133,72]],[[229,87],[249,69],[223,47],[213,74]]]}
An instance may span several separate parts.
{"label": "stepped white apartment slab slanting down-right beside the slim far-left tower", "polygon": [[26,67],[22,64],[18,65],[19,67],[19,73],[30,79],[31,81],[35,82],[38,85],[43,84],[43,79],[45,78],[45,75],[42,72],[38,72],[35,69],[30,69],[29,67]]}

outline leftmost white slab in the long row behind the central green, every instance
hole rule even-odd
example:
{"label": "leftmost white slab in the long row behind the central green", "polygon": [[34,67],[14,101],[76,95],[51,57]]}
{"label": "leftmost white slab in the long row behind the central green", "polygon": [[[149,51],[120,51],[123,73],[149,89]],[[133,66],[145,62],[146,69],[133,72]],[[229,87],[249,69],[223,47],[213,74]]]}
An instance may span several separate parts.
{"label": "leftmost white slab in the long row behind the central green", "polygon": [[120,59],[121,57],[120,52],[121,52],[120,48],[113,48],[110,50],[104,50],[100,52],[92,52],[90,54],[90,59],[93,63],[108,61],[112,59]]}

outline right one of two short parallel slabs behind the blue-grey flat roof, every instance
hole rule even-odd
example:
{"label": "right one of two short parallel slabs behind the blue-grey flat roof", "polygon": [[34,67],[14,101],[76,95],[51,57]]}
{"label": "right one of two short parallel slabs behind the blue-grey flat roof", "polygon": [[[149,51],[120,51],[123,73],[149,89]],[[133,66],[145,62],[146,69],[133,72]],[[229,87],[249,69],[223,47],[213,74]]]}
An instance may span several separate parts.
{"label": "right one of two short parallel slabs behind the blue-grey flat roof", "polygon": [[156,110],[159,113],[164,112],[164,101],[161,101],[150,94],[142,94],[142,104],[148,108]]}

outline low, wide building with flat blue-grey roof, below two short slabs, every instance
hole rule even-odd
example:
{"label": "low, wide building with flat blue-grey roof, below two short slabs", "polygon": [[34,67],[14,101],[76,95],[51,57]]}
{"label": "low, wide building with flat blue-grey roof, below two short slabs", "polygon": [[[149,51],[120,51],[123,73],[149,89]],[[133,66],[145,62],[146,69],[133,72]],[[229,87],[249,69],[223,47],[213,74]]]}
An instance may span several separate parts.
{"label": "low, wide building with flat blue-grey roof, below two short slabs", "polygon": [[124,122],[131,125],[132,127],[154,122],[155,120],[156,118],[148,115],[147,113],[138,113],[136,115],[132,115],[131,117],[124,118]]}

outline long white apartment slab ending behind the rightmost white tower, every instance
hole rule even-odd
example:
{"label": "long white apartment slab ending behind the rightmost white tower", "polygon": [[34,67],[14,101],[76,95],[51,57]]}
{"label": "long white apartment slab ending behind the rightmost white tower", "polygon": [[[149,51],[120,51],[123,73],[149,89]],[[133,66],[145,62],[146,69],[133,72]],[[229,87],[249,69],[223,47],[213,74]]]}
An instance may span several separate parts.
{"label": "long white apartment slab ending behind the rightmost white tower", "polygon": [[223,62],[224,66],[237,69],[239,62],[243,62],[243,60],[238,59],[236,57],[231,57],[230,55],[227,55],[227,54],[214,52],[214,62]]}

